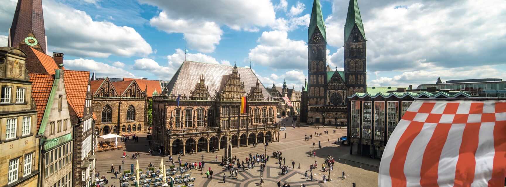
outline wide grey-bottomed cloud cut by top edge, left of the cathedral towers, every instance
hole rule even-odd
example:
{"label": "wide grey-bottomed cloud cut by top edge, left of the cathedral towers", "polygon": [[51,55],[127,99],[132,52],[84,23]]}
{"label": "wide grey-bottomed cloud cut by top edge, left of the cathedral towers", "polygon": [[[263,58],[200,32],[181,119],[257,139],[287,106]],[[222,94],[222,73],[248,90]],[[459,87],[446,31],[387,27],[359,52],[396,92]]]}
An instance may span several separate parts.
{"label": "wide grey-bottomed cloud cut by top edge, left of the cathedral towers", "polygon": [[270,0],[141,0],[140,2],[157,6],[167,14],[167,17],[174,20],[215,22],[234,30],[257,30],[258,27],[272,26],[276,18]]}

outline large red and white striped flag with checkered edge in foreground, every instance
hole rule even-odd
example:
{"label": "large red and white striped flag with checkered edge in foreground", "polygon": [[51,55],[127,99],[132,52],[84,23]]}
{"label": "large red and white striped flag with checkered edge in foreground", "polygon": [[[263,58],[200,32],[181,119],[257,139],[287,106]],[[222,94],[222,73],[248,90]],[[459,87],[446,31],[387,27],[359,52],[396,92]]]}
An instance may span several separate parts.
{"label": "large red and white striped flag with checkered edge in foreground", "polygon": [[379,166],[379,186],[503,186],[506,101],[421,101],[408,108]]}

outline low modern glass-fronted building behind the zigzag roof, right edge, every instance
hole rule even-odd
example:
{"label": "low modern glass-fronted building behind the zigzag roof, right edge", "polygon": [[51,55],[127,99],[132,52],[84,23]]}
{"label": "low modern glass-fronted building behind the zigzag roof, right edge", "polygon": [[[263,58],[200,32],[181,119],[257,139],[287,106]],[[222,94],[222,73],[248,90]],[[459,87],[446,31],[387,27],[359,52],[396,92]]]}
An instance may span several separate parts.
{"label": "low modern glass-fronted building behind the zigzag roof, right edge", "polygon": [[478,96],[480,98],[504,98],[506,97],[506,81],[500,78],[482,78],[482,79],[462,79],[462,80],[448,80],[446,82],[440,81],[435,84],[420,84],[417,89],[429,89],[436,87],[436,89],[448,89],[454,91],[466,91],[471,96]]}

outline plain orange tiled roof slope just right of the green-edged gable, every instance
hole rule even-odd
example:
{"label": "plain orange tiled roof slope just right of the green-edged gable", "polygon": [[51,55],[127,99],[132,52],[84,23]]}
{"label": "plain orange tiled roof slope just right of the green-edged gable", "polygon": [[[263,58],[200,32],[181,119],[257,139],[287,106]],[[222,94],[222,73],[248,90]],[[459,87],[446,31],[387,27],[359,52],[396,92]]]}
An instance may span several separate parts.
{"label": "plain orange tiled roof slope just right of the green-edged gable", "polygon": [[85,111],[86,92],[88,90],[89,71],[66,70],[63,81],[67,92],[67,102],[77,117],[82,118]]}

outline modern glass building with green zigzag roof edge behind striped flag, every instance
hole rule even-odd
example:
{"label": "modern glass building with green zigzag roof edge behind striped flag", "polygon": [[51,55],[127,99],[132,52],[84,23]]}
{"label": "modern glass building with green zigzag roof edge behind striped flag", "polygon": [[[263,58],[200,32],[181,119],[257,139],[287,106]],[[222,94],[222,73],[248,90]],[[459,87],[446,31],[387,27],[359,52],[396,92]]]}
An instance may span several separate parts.
{"label": "modern glass building with green zigzag roof edge behind striped flag", "polygon": [[[399,120],[418,98],[470,98],[463,91],[407,91],[355,93],[349,96],[350,154],[381,158]],[[478,97],[477,97],[478,98]]]}

